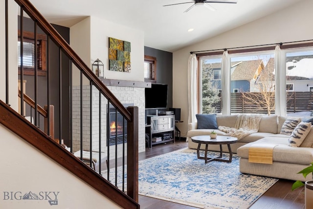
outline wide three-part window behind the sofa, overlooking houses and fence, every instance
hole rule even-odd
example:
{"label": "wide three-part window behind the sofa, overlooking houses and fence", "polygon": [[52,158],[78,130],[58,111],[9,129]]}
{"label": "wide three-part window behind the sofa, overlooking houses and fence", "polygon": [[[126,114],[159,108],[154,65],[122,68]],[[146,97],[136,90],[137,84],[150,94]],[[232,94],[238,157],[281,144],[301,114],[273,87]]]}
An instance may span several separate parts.
{"label": "wide three-part window behind the sofa, overlooking houses and fence", "polygon": [[[278,69],[275,69],[274,49],[273,46],[267,46],[228,51],[229,80],[224,79],[228,76],[223,75],[221,59],[218,59],[223,51],[197,54],[199,113],[221,113],[224,105],[227,108],[230,106],[231,114],[272,115],[277,109],[277,114],[282,116],[311,116],[313,42],[282,45],[280,57],[277,58],[284,60],[285,64],[278,63]],[[217,70],[221,70],[221,75]],[[275,80],[276,74],[280,80]],[[219,76],[221,80],[215,80]],[[230,86],[229,90],[223,89],[222,82],[226,84],[223,86]],[[222,93],[216,97],[215,88],[223,93],[230,93],[229,97],[223,98],[226,101],[222,101]],[[235,92],[240,92],[240,95]],[[275,107],[275,99],[280,101],[280,107]],[[285,109],[286,113],[282,113]]]}

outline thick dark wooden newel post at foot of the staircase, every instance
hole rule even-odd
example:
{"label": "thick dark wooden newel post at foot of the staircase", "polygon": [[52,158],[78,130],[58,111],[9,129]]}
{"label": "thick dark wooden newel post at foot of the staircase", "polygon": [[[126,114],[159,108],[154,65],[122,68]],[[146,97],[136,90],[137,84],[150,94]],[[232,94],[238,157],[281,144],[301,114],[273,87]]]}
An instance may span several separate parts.
{"label": "thick dark wooden newel post at foot of the staircase", "polygon": [[127,195],[138,203],[138,107],[128,107],[133,116],[127,122]]}

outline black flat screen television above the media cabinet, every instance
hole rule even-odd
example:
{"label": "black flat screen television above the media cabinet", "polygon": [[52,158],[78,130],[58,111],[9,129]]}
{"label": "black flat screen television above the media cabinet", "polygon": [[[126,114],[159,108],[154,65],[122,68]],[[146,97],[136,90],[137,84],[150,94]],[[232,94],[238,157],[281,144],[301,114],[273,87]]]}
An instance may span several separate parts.
{"label": "black flat screen television above the media cabinet", "polygon": [[151,84],[151,88],[145,88],[145,108],[167,108],[167,84]]}

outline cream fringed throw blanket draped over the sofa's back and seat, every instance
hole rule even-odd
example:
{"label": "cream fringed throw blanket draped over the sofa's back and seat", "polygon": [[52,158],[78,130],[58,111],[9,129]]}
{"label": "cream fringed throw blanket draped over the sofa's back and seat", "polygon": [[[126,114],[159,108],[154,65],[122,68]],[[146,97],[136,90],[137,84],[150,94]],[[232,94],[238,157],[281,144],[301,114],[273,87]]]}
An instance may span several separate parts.
{"label": "cream fringed throw blanket draped over the sofa's back and seat", "polygon": [[260,114],[241,114],[237,117],[234,128],[219,126],[219,130],[226,133],[226,136],[236,137],[238,140],[257,133],[262,115]]}

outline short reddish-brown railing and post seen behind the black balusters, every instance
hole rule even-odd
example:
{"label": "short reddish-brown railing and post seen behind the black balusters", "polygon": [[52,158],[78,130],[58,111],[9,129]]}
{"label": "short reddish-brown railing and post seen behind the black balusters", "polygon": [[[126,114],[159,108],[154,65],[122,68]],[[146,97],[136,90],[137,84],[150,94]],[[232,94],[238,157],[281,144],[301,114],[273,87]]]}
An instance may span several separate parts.
{"label": "short reddish-brown railing and post seen behind the black balusters", "polygon": [[[19,97],[21,98],[21,90],[19,90]],[[32,98],[30,98],[27,94],[24,93],[23,99],[24,99],[24,102],[26,102],[26,104],[28,104],[31,108],[35,109],[36,103]],[[48,106],[47,105],[45,105],[44,108],[42,108],[40,105],[37,105],[37,110],[38,110],[38,113],[45,118],[45,120],[44,120],[45,133],[48,134],[48,125],[49,125],[50,126],[49,136],[51,137],[51,139],[54,140],[54,106],[49,105],[50,117],[48,117],[48,111],[47,111]],[[50,121],[48,121],[48,118]]]}

